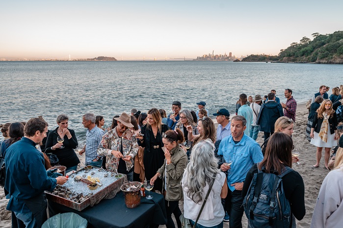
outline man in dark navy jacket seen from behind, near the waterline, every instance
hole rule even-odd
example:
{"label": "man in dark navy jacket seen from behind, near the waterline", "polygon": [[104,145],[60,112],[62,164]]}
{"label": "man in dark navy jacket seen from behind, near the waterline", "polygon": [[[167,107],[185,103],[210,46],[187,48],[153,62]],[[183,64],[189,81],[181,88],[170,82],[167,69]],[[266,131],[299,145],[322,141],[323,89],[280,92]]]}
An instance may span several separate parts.
{"label": "man in dark navy jacket seen from behind, near the waterline", "polygon": [[274,133],[274,125],[276,120],[284,116],[281,104],[275,102],[275,94],[268,94],[268,102],[265,102],[260,110],[256,124],[259,125],[259,130],[264,132],[264,141]]}

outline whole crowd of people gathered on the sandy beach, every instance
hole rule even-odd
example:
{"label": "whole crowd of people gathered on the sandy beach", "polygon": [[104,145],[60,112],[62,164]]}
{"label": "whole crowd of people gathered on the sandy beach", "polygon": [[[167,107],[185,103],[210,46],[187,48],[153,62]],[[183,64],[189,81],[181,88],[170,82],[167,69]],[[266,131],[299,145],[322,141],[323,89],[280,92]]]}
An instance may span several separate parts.
{"label": "whole crowd of people gathered on the sandy beach", "polygon": [[[337,147],[336,155],[329,161],[330,149],[337,145],[336,139],[343,132],[340,126],[337,130],[336,113],[343,102],[343,88],[334,88],[330,99],[326,89],[321,86],[314,95],[308,118],[310,129],[307,129],[311,144],[317,147],[317,163],[313,168],[319,167],[324,147],[325,168],[331,165],[330,169],[334,170],[324,183],[329,178],[337,182],[342,176],[339,171],[343,169],[343,148]],[[79,149],[79,155],[84,154],[84,165],[125,174],[129,181],[150,181],[153,190],[165,196],[167,228],[175,227],[172,214],[177,227],[182,226],[180,201],[184,202],[183,216],[192,226],[220,228],[223,222],[229,222],[230,228],[241,228],[247,209],[250,226],[259,227],[256,224],[264,222],[257,219],[259,214],[254,208],[263,211],[261,203],[267,203],[268,208],[270,202],[278,203],[273,201],[275,195],[268,194],[280,181],[283,181],[290,214],[281,211],[285,216],[276,218],[280,221],[288,218],[289,227],[295,227],[295,218],[301,220],[306,212],[303,179],[291,169],[299,161],[292,155],[291,139],[297,103],[291,89],[284,92],[286,103],[280,103],[275,95],[276,91],[271,90],[263,101],[261,95],[253,99],[253,96],[241,94],[236,105],[237,115],[231,120],[225,108],[209,113],[204,101],[196,103],[197,111],[182,109],[181,102],[174,101],[169,115],[163,109],[151,108],[144,113],[133,108],[131,114],[123,112],[114,116],[111,127],[106,129],[103,116],[86,113],[82,116],[82,124],[87,128],[86,143]],[[215,116],[217,128],[209,115]],[[41,116],[27,123],[1,126],[5,137],[0,144],[6,171],[4,189],[10,199],[7,209],[13,211],[13,227],[40,227],[46,220],[44,191],[52,191],[56,184],[68,180],[46,171],[51,168],[50,163],[55,164],[53,159],[65,166],[67,173],[78,169],[80,161],[75,152],[78,140],[75,131],[68,128],[68,120],[67,115],[57,116],[57,127],[53,130],[48,130]],[[341,133],[337,133],[339,131]],[[262,146],[256,142],[259,132],[264,132]],[[261,173],[264,175],[259,175]],[[271,191],[261,191],[268,186]],[[320,189],[318,201],[320,198],[323,202],[338,202],[342,187],[336,186],[338,195],[331,199],[327,195],[328,186]],[[253,197],[249,199],[249,195]],[[242,207],[242,204],[248,205],[249,200],[253,200],[254,206]],[[335,209],[333,205],[317,204],[315,213],[325,211],[329,213],[326,218]],[[335,205],[340,209],[339,203]],[[273,212],[270,213],[269,225]],[[334,223],[332,220],[329,222]],[[313,227],[318,226],[313,223]]]}

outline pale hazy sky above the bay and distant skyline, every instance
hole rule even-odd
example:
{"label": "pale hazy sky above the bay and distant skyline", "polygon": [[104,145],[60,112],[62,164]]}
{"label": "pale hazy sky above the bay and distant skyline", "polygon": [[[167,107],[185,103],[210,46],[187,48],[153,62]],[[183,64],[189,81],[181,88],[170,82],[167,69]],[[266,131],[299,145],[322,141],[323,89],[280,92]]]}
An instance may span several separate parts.
{"label": "pale hazy sky above the bay and distant skyline", "polygon": [[195,58],[278,54],[343,30],[342,0],[13,0],[0,4],[0,58]]}

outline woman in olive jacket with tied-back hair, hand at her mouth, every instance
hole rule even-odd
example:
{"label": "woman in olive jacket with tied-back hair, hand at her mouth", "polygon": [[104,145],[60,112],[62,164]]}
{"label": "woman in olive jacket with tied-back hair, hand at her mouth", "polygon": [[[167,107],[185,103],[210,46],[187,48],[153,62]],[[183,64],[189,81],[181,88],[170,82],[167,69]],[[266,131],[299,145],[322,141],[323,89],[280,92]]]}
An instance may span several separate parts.
{"label": "woman in olive jacket with tied-back hair, hand at her mouth", "polygon": [[182,198],[181,179],[187,164],[187,155],[179,146],[179,143],[185,141],[184,135],[180,129],[167,130],[162,133],[162,142],[165,148],[164,162],[161,168],[158,169],[150,182],[154,184],[155,180],[160,177],[163,180],[162,193],[165,193],[165,208],[167,211],[167,228],[175,228],[175,224],[171,217],[175,216],[178,227],[181,227],[179,201]]}

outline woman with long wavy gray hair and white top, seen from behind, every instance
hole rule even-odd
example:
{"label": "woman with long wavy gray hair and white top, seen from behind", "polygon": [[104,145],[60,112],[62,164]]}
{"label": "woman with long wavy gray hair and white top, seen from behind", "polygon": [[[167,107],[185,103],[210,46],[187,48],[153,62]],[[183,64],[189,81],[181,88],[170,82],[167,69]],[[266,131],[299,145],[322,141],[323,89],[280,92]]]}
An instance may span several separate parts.
{"label": "woman with long wavy gray hair and white top, seen from behind", "polygon": [[218,159],[214,157],[211,140],[200,141],[193,147],[189,163],[182,178],[185,218],[194,223],[214,179],[211,194],[200,214],[196,228],[222,228],[225,215],[221,199],[228,193],[226,176],[218,169]]}

